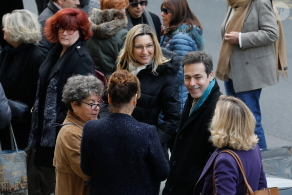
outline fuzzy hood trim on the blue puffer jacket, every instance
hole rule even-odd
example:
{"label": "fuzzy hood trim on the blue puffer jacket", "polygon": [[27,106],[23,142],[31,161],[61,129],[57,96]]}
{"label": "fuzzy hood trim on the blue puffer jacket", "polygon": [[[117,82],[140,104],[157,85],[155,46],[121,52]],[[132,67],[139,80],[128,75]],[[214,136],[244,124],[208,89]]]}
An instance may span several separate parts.
{"label": "fuzzy hood trim on the blue puffer jacket", "polygon": [[181,25],[171,33],[171,37],[178,34],[179,32],[187,33],[190,37],[192,37],[192,39],[196,41],[199,50],[203,49],[203,46],[205,44],[205,40],[202,37],[203,31],[196,25],[193,25],[193,29],[189,31],[187,31],[188,28],[189,28],[188,25],[185,24]]}

